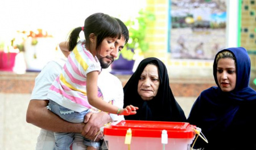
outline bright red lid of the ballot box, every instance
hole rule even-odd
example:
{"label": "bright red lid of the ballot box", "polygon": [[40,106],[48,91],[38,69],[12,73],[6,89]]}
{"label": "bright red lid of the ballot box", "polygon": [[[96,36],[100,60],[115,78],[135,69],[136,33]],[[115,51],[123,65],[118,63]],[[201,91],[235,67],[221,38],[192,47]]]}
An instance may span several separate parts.
{"label": "bright red lid of the ballot box", "polygon": [[193,138],[196,128],[188,122],[160,122],[160,121],[121,121],[104,127],[104,135],[126,136],[128,129],[132,136],[161,138],[162,131],[166,130],[168,138]]}

